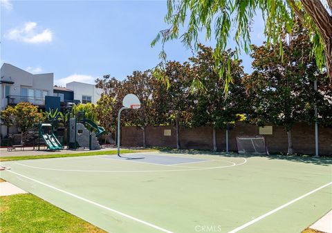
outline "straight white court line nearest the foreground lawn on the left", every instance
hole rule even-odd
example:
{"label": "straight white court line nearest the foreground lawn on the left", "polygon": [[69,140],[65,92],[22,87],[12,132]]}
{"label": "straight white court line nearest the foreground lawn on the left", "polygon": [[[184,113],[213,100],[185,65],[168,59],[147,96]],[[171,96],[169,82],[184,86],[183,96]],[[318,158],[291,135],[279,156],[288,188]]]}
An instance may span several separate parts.
{"label": "straight white court line nearest the foreground lawn on the left", "polygon": [[94,202],[94,201],[90,201],[89,199],[84,199],[82,196],[78,196],[78,195],[76,195],[76,194],[72,194],[71,192],[67,192],[67,191],[64,191],[64,190],[60,190],[59,188],[55,188],[55,187],[52,186],[52,185],[48,185],[47,183],[43,183],[43,182],[41,182],[41,181],[37,181],[37,180],[35,180],[35,179],[32,179],[32,178],[30,178],[30,177],[28,177],[28,176],[24,176],[24,175],[19,174],[19,173],[17,173],[17,172],[12,172],[11,170],[6,170],[6,171],[7,171],[7,172],[11,172],[11,173],[13,173],[13,174],[17,174],[17,176],[22,176],[22,177],[24,177],[24,178],[26,178],[26,179],[29,179],[30,181],[35,181],[36,183],[39,183],[39,184],[41,184],[41,185],[44,185],[44,186],[46,186],[46,187],[48,187],[48,188],[52,188],[53,190],[57,190],[57,191],[59,191],[59,192],[63,192],[64,194],[67,194],[67,195],[69,195],[69,196],[73,196],[73,197],[75,197],[75,198],[77,198],[77,199],[80,199],[80,200],[82,200],[82,201],[85,201],[85,202],[87,202],[87,203],[91,203],[91,204],[96,205],[96,206],[98,206],[98,207],[102,207],[102,208],[105,209],[105,210],[109,210],[109,211],[111,211],[111,212],[114,212],[114,213],[116,213],[116,214],[119,214],[119,215],[121,215],[121,216],[124,216],[124,217],[126,217],[126,218],[128,218],[128,219],[131,219],[131,220],[133,220],[133,221],[137,221],[138,223],[142,223],[142,224],[144,224],[144,225],[148,225],[149,227],[153,227],[153,228],[155,228],[155,229],[157,229],[157,230],[160,230],[160,231],[162,231],[162,232],[173,233],[173,232],[171,232],[171,231],[169,231],[169,230],[166,230],[166,229],[164,229],[164,228],[162,228],[162,227],[158,227],[158,226],[156,226],[156,225],[154,225],[154,224],[151,224],[151,223],[148,223],[148,222],[146,222],[146,221],[142,221],[142,220],[140,220],[140,219],[137,219],[137,218],[135,218],[135,217],[133,217],[133,216],[130,216],[129,214],[124,214],[124,213],[122,213],[122,212],[120,212],[120,211],[118,211],[118,210],[114,210],[114,209],[111,209],[110,207],[107,207],[107,206],[104,206],[104,205],[100,205],[99,203],[96,203],[96,202]]}

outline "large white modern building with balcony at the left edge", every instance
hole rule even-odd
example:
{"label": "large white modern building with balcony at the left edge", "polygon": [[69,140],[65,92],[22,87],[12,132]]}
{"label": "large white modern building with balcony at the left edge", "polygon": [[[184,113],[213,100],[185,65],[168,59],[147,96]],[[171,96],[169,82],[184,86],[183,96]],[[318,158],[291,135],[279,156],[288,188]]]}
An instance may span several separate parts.
{"label": "large white modern building with balcony at the left edge", "polygon": [[[53,73],[31,74],[3,63],[0,74],[0,110],[21,101],[44,105],[45,97],[53,96]],[[1,134],[6,134],[4,125],[1,125]]]}

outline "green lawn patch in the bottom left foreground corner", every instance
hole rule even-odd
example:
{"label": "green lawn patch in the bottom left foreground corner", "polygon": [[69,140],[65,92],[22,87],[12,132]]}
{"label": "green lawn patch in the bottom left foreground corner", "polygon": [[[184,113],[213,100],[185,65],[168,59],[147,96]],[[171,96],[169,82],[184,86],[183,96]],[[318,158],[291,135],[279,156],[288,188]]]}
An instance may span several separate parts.
{"label": "green lawn patch in the bottom left foreground corner", "polygon": [[33,194],[0,197],[0,232],[104,232]]}

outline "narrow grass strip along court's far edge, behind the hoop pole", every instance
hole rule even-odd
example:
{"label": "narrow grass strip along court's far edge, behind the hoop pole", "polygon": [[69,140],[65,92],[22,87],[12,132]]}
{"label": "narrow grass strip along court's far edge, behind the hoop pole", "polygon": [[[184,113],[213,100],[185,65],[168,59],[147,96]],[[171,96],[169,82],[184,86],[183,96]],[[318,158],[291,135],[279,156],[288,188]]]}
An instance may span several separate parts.
{"label": "narrow grass strip along court's far edge, behind the hoop pole", "polygon": [[[151,152],[156,150],[121,150],[121,154],[138,153],[138,152]],[[90,156],[90,155],[102,155],[102,154],[117,154],[116,150],[104,150],[93,152],[82,152],[76,154],[41,154],[41,155],[23,155],[23,156],[8,156],[0,157],[0,161],[17,161],[27,159],[50,159],[50,158],[62,158],[62,157],[75,157],[75,156]]]}

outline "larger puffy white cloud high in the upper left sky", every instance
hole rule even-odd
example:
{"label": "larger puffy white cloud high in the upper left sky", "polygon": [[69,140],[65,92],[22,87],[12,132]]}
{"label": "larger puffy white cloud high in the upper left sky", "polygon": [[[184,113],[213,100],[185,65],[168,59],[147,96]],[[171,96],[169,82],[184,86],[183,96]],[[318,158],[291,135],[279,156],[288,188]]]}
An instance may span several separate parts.
{"label": "larger puffy white cloud high in the upper left sky", "polygon": [[39,30],[36,22],[27,22],[22,28],[13,28],[5,34],[6,39],[26,43],[49,43],[53,39],[50,29]]}

